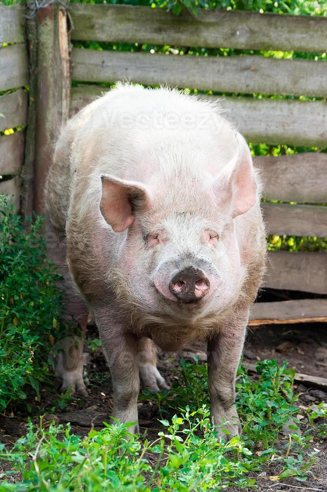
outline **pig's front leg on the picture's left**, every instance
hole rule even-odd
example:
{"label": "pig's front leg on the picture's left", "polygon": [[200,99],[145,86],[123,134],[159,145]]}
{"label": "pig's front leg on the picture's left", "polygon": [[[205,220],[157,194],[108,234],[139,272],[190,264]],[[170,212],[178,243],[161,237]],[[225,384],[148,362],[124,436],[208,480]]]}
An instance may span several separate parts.
{"label": "pig's front leg on the picture's left", "polygon": [[95,311],[103,351],[110,368],[114,408],[112,415],[120,423],[135,422],[128,428],[139,433],[137,399],[140,391],[138,340],[126,331],[119,316],[106,309]]}

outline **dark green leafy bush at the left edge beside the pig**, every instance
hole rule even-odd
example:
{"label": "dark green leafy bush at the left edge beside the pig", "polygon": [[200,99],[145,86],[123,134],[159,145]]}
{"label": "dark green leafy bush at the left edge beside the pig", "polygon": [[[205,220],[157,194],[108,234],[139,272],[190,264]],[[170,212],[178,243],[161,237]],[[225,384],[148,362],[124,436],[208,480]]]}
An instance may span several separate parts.
{"label": "dark green leafy bush at the left edge beside the pig", "polygon": [[24,227],[10,197],[0,195],[0,410],[40,399],[47,356],[58,331],[60,277],[46,259],[42,219]]}

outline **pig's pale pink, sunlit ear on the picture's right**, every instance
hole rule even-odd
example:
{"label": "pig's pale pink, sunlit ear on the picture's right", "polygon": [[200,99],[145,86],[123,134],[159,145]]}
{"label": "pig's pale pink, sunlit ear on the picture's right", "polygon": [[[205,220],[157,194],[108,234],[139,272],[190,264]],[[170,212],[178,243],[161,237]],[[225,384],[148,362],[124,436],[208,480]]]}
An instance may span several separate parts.
{"label": "pig's pale pink, sunlit ear on the picture's right", "polygon": [[220,197],[224,197],[219,201],[224,202],[226,208],[228,204],[233,218],[247,212],[257,200],[257,186],[250,149],[242,135],[236,133],[235,137],[238,152],[218,176],[216,179],[218,187],[215,186],[216,196],[218,192]]}

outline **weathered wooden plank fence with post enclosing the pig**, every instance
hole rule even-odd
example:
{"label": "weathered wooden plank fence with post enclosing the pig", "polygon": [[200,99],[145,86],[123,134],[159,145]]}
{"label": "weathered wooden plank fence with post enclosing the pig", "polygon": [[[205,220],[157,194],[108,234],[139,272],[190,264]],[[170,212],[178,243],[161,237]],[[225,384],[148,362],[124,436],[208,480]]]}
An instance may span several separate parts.
{"label": "weathered wooden plank fence with post enclosing the pig", "polygon": [[[6,11],[10,21],[7,21],[5,37],[12,36],[11,42],[19,43],[0,49],[0,68],[5,67],[4,71],[0,70],[0,90],[6,90],[27,83],[26,48],[20,31],[23,24],[21,13],[15,14],[15,9],[0,9],[0,32],[2,11]],[[71,69],[68,70],[65,13],[47,9],[46,15],[40,17],[40,11],[38,15],[38,86],[45,85],[52,97],[45,100],[40,91],[37,96],[39,109],[36,116],[34,173],[37,209],[42,204],[40,183],[51,160],[49,148],[58,118],[65,121],[68,112],[76,113],[103,91],[109,90],[100,86],[100,82],[114,83],[122,79],[146,85],[168,82],[180,88],[245,94],[224,97],[221,105],[226,110],[226,116],[237,124],[248,141],[316,146],[318,149],[327,147],[327,62],[323,60],[288,60],[255,54],[180,56],[73,47]],[[70,16],[74,26],[71,39],[76,41],[138,43],[139,46],[156,44],[242,50],[327,51],[327,19],[318,17],[217,11],[204,22],[194,19],[187,12],[176,17],[162,9],[147,7],[78,4],[72,5]],[[45,18],[47,23],[44,22]],[[44,26],[40,30],[42,23]],[[63,29],[63,26],[66,27]],[[9,42],[8,39],[4,41]],[[60,53],[60,56],[50,64],[49,53]],[[10,65],[12,69],[8,68]],[[79,83],[74,84],[71,94],[70,78]],[[61,94],[59,98],[58,91]],[[252,97],[253,93],[294,97],[259,99]],[[302,100],[297,96],[319,100]],[[209,95],[201,97],[216,98]],[[1,96],[0,112],[6,113],[8,118],[0,119],[2,129],[24,124],[26,104],[27,95],[23,89]],[[57,108],[55,115],[54,107]],[[54,118],[57,118],[55,122]],[[8,125],[9,121],[11,125]],[[18,162],[21,163],[22,159],[15,157],[19,146],[14,139],[21,139],[22,147],[22,137],[18,137],[18,133],[8,138],[1,137],[0,154],[7,156],[1,167],[3,174],[19,175],[21,165]],[[42,149],[48,151],[45,153]],[[263,203],[268,231],[273,234],[327,236],[327,207],[319,205],[327,202],[327,154],[316,152],[257,157],[255,163],[261,170],[265,198],[299,203]],[[17,178],[0,186],[8,188],[10,183],[13,183],[12,186],[16,183],[16,188],[19,186]],[[273,289],[325,295],[327,254],[271,252],[265,285]],[[257,303],[251,324],[290,320],[326,321],[327,299]]]}

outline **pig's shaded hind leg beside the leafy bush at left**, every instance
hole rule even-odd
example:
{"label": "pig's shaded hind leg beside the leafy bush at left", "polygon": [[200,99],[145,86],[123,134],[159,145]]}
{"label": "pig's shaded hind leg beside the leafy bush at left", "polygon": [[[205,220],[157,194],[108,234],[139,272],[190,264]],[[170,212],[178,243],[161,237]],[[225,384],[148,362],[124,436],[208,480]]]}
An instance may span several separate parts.
{"label": "pig's shaded hind leg beside the leafy bush at left", "polygon": [[[46,238],[48,259],[58,267],[63,280],[58,287],[63,289],[65,313],[64,322],[72,323],[68,331],[55,345],[54,356],[50,357],[54,371],[61,378],[61,390],[69,388],[86,397],[83,381],[83,348],[88,321],[88,308],[76,291],[66,263],[66,244],[64,231],[59,231],[46,217]],[[77,335],[78,334],[78,335]]]}

